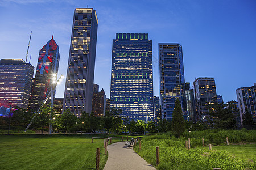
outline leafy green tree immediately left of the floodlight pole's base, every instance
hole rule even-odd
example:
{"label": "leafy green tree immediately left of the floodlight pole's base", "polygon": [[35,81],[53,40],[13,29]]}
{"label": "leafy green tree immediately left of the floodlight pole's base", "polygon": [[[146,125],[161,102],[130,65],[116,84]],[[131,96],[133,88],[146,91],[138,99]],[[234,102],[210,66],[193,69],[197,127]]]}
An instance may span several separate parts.
{"label": "leafy green tree immediately left of the floodlight pole's base", "polygon": [[53,109],[48,105],[43,105],[39,109],[39,113],[35,114],[34,122],[39,127],[42,127],[42,133],[44,131],[44,126],[49,125],[51,122],[51,118],[53,116]]}

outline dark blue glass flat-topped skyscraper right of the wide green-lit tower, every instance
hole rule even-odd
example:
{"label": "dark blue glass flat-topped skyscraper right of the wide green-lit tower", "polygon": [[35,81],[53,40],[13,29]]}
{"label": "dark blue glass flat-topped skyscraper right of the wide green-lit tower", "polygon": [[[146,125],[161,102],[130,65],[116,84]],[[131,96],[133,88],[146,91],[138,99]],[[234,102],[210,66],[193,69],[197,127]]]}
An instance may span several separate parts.
{"label": "dark blue glass flat-topped skyscraper right of the wide green-lit tower", "polygon": [[159,43],[158,50],[162,118],[172,120],[176,99],[180,100],[183,115],[187,118],[182,46],[177,43]]}

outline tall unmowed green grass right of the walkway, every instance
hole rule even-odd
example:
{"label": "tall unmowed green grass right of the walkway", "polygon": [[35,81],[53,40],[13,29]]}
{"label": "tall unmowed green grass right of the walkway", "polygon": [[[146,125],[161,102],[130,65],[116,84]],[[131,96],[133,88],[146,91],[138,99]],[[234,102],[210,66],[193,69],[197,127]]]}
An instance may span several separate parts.
{"label": "tall unmowed green grass right of the walkway", "polygon": [[[256,169],[256,158],[249,159],[233,155],[224,150],[209,151],[208,147],[201,147],[201,138],[204,137],[205,143],[224,144],[226,136],[232,143],[255,142],[256,131],[237,131],[237,130],[205,130],[199,132],[184,133],[179,139],[172,133],[158,134],[142,138],[141,151],[138,145],[134,150],[146,159],[148,163],[156,166],[156,146],[160,150],[160,164],[158,169]],[[191,138],[191,150],[185,148],[185,140]],[[237,145],[239,147],[239,145]],[[226,146],[228,147],[228,146]],[[256,151],[256,145],[248,145],[251,150]]]}

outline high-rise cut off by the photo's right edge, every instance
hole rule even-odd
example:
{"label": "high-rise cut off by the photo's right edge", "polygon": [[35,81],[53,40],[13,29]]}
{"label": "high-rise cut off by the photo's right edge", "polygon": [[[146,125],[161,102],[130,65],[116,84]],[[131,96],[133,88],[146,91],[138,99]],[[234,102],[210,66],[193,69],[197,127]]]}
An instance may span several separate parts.
{"label": "high-rise cut off by the photo's right edge", "polygon": [[256,123],[256,83],[251,87],[238,88],[236,92],[241,122],[243,121],[242,115],[247,110],[253,116],[254,123]]}

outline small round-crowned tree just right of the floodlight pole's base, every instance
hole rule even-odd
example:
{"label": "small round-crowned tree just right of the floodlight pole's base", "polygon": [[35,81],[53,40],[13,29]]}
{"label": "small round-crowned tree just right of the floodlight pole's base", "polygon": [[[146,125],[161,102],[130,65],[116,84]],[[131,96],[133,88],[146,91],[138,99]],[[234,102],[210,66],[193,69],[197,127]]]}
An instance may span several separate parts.
{"label": "small round-crowned tree just right of the floodlight pole's base", "polygon": [[60,124],[65,128],[65,134],[66,130],[69,128],[72,128],[77,122],[77,117],[75,114],[72,114],[69,109],[66,111],[63,111],[61,118],[60,118]]}

